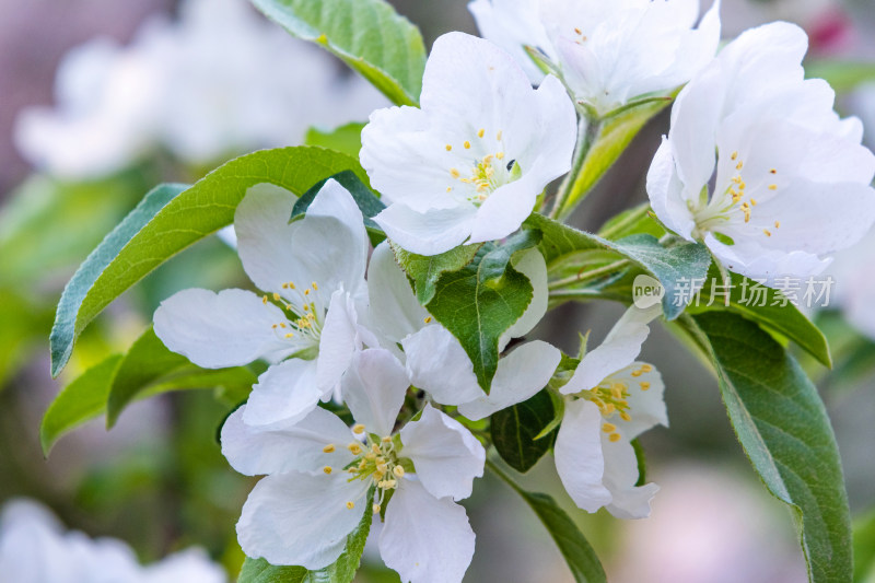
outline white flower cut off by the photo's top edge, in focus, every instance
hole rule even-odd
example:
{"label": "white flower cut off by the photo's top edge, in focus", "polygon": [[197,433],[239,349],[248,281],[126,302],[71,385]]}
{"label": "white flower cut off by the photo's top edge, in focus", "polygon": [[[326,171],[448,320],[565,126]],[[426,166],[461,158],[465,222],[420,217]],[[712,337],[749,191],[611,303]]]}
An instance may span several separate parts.
{"label": "white flower cut off by the photo's top edge, in focus", "polygon": [[719,0],[698,28],[699,0],[477,0],[470,9],[485,38],[528,70],[521,45],[540,49],[574,100],[599,115],[686,83],[720,42]]}

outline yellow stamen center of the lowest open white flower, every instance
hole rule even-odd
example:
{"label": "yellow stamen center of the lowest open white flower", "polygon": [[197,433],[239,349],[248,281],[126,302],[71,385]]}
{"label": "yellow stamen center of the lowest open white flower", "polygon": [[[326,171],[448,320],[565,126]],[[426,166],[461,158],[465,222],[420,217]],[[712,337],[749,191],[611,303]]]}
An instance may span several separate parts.
{"label": "yellow stamen center of the lowest open white flower", "polygon": [[[412,463],[398,455],[401,451],[401,441],[397,434],[378,438],[377,435],[365,433],[362,424],[354,425],[352,432],[357,435],[364,435],[365,440],[364,443],[353,441],[347,445],[347,450],[355,457],[343,469],[350,475],[349,481],[364,480],[376,487],[373,508],[376,514],[386,498],[398,487],[398,480],[407,471],[412,471]],[[325,453],[334,451],[334,445],[326,445],[323,448]],[[323,471],[331,474],[334,468],[325,466]],[[347,502],[347,508],[352,509],[354,506],[354,501]]]}

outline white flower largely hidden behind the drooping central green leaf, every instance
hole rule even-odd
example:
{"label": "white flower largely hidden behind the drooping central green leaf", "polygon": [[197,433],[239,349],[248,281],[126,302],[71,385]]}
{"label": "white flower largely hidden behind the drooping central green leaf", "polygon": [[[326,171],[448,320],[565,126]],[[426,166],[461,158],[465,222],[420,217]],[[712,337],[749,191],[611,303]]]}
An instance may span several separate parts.
{"label": "white flower largely hidden behind the drooping central green leaf", "polygon": [[[513,338],[528,334],[547,312],[547,265],[540,252],[518,254],[513,267],[532,282],[533,299],[499,338],[500,352]],[[523,343],[499,360],[487,395],[458,340],[417,302],[387,244],[374,249],[368,282],[371,310],[381,316],[375,317],[374,326],[385,336],[385,345],[402,346],[413,385],[440,404],[459,406],[469,419],[482,419],[532,397],[547,385],[562,358],[558,349],[541,340]]]}

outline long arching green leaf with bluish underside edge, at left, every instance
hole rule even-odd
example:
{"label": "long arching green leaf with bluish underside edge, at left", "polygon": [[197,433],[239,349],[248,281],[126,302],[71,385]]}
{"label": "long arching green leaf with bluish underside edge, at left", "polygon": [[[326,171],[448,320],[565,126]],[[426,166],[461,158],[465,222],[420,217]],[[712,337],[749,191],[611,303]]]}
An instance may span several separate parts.
{"label": "long arching green leaf with bluish underside edge, at left", "polygon": [[262,150],[228,162],[194,186],[153,189],[85,259],[67,284],[51,330],[51,374],[63,369],[75,338],[113,300],[186,247],[231,224],[255,185],[304,194],[316,182],[351,170],[368,184],[359,162],[322,148]]}

